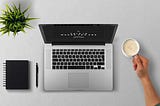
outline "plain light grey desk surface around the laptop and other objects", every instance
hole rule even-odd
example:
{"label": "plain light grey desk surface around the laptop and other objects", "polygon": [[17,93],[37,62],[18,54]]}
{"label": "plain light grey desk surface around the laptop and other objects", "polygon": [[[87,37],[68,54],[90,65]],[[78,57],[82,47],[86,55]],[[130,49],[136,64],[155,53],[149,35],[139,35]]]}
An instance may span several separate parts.
{"label": "plain light grey desk surface around the laptop and other objects", "polygon": [[[9,1],[9,0],[8,0]],[[18,1],[14,0],[16,3]],[[7,0],[1,0],[4,8]],[[131,59],[121,53],[127,38],[140,42],[140,54],[150,60],[150,75],[160,93],[160,1],[159,0],[20,0],[22,7],[31,5],[29,13],[35,29],[27,33],[0,36],[0,105],[1,106],[144,106],[143,88]],[[43,39],[39,23],[117,23],[114,39],[114,87],[112,92],[44,92]],[[2,63],[5,59],[31,61],[31,90],[6,91],[2,87]],[[40,86],[35,88],[35,62],[40,67]]]}

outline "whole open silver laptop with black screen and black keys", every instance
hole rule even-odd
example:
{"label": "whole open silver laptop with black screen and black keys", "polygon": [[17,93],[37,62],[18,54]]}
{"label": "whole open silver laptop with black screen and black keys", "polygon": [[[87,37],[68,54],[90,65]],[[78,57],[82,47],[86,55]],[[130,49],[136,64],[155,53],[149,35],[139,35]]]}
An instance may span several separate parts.
{"label": "whole open silver laptop with black screen and black keys", "polygon": [[39,24],[45,91],[113,90],[117,24]]}

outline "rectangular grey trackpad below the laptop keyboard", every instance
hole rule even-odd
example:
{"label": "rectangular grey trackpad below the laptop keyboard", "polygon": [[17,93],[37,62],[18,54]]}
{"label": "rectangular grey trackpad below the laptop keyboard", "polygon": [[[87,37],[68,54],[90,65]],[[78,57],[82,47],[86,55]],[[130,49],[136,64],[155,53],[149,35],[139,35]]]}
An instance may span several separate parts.
{"label": "rectangular grey trackpad below the laptop keyboard", "polygon": [[68,73],[69,88],[88,88],[89,73]]}

